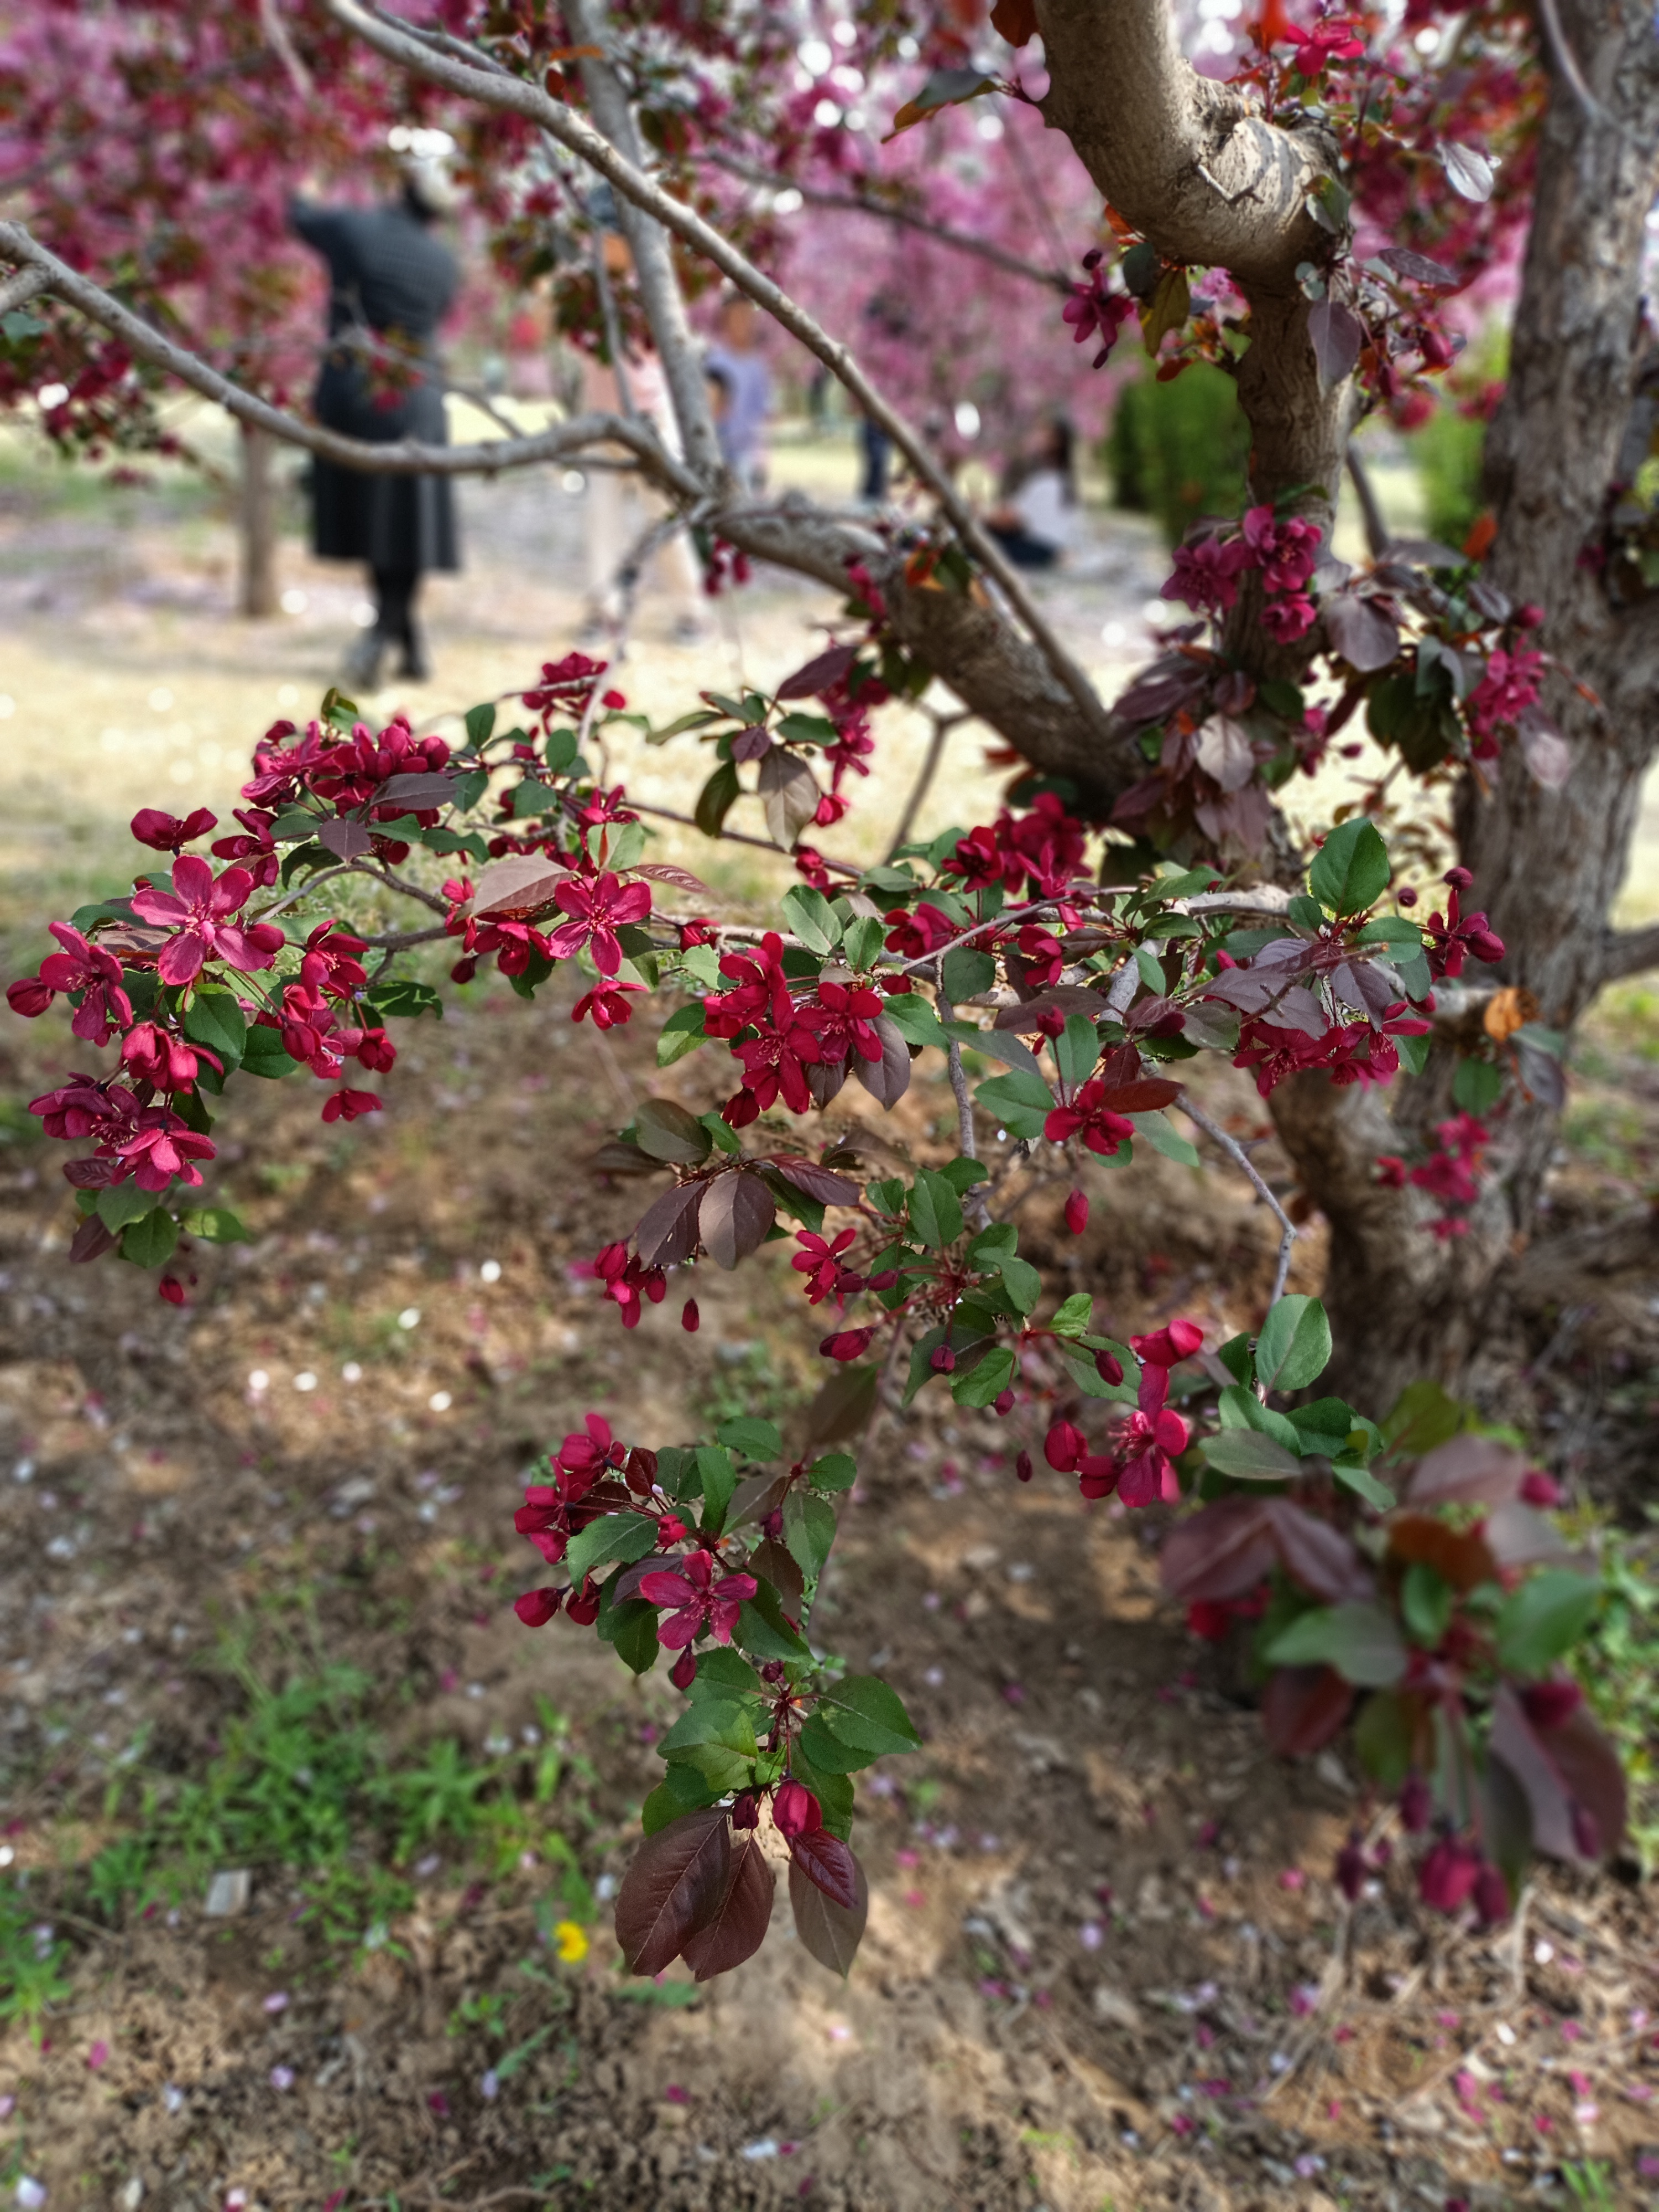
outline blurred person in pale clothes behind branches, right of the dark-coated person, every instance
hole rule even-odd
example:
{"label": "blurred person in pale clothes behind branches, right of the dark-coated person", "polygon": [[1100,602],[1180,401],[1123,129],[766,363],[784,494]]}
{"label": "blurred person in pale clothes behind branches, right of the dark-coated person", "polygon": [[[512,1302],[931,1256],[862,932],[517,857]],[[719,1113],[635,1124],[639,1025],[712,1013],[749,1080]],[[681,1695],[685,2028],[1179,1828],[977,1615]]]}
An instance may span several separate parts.
{"label": "blurred person in pale clothes behind branches, right of the dark-coated person", "polygon": [[[628,241],[617,230],[617,206],[608,184],[602,184],[588,199],[588,215],[599,230],[599,261],[604,283],[626,276],[633,268]],[[606,314],[606,323],[619,332],[622,319]],[[664,447],[679,456],[679,422],[668,396],[668,378],[661,358],[650,341],[622,347],[622,376],[613,363],[582,356],[582,405],[593,414],[637,414],[657,431]],[[617,460],[628,458],[617,451]],[[586,611],[582,639],[593,644],[613,637],[624,622],[635,577],[624,577],[624,566],[650,526],[646,500],[639,493],[639,476],[628,469],[588,469],[586,489]],[[672,535],[655,549],[653,564],[672,608],[675,641],[695,646],[708,637],[703,619],[703,571],[690,542],[690,533],[679,524]]]}

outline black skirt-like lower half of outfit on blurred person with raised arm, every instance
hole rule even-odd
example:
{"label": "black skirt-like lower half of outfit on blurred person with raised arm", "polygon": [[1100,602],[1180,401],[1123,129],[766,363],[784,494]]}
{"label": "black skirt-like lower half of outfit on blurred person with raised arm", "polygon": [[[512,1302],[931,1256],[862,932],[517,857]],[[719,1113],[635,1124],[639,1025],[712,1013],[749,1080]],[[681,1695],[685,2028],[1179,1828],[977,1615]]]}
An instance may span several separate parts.
{"label": "black skirt-like lower half of outfit on blurred person with raised arm", "polygon": [[[414,385],[394,407],[376,405],[363,369],[349,356],[327,356],[314,405],[316,420],[345,438],[449,445],[436,383]],[[405,573],[460,568],[456,487],[447,476],[374,476],[316,456],[312,551],[319,560],[358,560],[372,568]]]}

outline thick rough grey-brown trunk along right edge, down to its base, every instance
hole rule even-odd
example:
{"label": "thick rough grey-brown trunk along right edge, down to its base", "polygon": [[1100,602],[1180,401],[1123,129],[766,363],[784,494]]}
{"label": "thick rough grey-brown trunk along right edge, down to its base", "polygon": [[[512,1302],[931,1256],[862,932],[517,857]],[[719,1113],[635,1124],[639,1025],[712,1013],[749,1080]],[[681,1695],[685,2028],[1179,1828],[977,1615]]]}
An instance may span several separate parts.
{"label": "thick rough grey-brown trunk along right edge, down to its base", "polygon": [[[1559,792],[1504,754],[1493,787],[1458,799],[1458,847],[1504,960],[1571,1031],[1608,975],[1608,914],[1624,883],[1641,779],[1659,745],[1659,602],[1619,606],[1606,586],[1608,489],[1641,374],[1644,221],[1659,184],[1659,40],[1646,0],[1613,13],[1564,7],[1566,38],[1606,115],[1586,117],[1555,77],[1537,155],[1537,206],[1515,307],[1511,376],[1489,440],[1498,540],[1489,577],[1548,611],[1544,644],[1595,690],[1557,677],[1544,695],[1573,748]],[[1378,1152],[1407,1152],[1453,1110],[1451,1042],[1400,1084],[1394,1119],[1376,1093],[1296,1077],[1274,1121],[1303,1188],[1332,1223],[1325,1298],[1338,1340],[1334,1387],[1385,1409],[1413,1376],[1464,1385],[1524,1248],[1557,1135],[1544,1104],[1493,1117],[1489,1183],[1462,1237],[1436,1239],[1422,1192],[1387,1190]]]}

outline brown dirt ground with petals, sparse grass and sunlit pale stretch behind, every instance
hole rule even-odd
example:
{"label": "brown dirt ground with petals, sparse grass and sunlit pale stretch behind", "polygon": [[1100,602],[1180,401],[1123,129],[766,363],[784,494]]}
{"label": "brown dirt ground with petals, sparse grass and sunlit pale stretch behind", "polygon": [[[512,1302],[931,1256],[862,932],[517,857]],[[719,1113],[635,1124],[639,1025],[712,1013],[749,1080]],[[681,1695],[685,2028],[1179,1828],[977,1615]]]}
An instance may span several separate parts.
{"label": "brown dirt ground with petals, sparse grass and sunlit pale stretch behind", "polygon": [[[330,679],[356,591],[290,549],[305,613],[241,624],[228,535],[190,495],[131,493],[119,526],[29,471],[2,500],[18,973],[46,914],[111,883],[135,805],[223,810],[250,734]],[[577,502],[498,487],[469,520],[422,712],[526,681],[571,635]],[[1057,593],[1095,659],[1157,575],[1137,538],[1099,571]],[[763,580],[721,650],[776,675],[825,613]],[[664,708],[697,681],[648,613],[626,688]],[[878,845],[922,737],[894,732],[843,849]],[[993,787],[969,741],[933,825],[982,818]],[[1234,1659],[1159,1599],[1159,1517],[1022,1489],[1020,1413],[927,1394],[865,1453],[823,1613],[925,1732],[860,1792],[849,1982],[783,1920],[708,1991],[624,1982],[606,1893],[677,1701],[564,1621],[518,1624],[522,1471],[588,1409],[644,1442],[739,1407],[787,1420],[818,1332],[776,1254],[699,1279],[697,1338],[675,1301],[624,1336],[580,1272],[639,1210],[584,1161],[646,1086],[710,1104],[701,1055],[661,1077],[630,1033],[595,1053],[557,995],[482,984],[400,1042],[383,1117],[325,1130],[296,1082],[226,1121],[221,1194],[254,1243],[201,1254],[175,1312],[135,1270],[64,1265],[24,1104],[73,1040],[0,1031],[0,1947],[55,1978],[33,2033],[0,2026],[0,2179],[179,2212],[1655,2201],[1637,1867],[1544,1869],[1489,1938],[1425,1913],[1402,1869],[1347,1911],[1332,1860],[1371,1818],[1352,1761],[1267,1756]],[[1626,993],[1582,1055],[1559,1232],[1517,1274],[1506,1418],[1586,1528],[1610,1506],[1639,1531],[1652,1495],[1657,1060],[1655,1004]],[[1214,1104],[1261,1121],[1243,1084]],[[847,1124],[872,1157],[927,1155],[949,1095]],[[1115,1332],[1259,1312],[1243,1186],[1150,1161],[1093,1197],[1082,1241],[1035,1201],[1033,1256]],[[1301,1287],[1316,1270],[1314,1230]],[[208,1916],[232,1869],[246,1902]]]}

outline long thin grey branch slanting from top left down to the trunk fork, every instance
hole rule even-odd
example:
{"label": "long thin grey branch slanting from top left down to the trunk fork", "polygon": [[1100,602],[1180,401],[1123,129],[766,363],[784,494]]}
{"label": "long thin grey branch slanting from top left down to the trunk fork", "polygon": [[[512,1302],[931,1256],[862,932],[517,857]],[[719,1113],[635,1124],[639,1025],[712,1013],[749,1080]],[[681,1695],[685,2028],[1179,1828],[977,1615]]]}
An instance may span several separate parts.
{"label": "long thin grey branch slanting from top left down to the trunk fork", "polygon": [[[442,84],[462,97],[478,100],[482,106],[504,108],[511,115],[522,115],[538,124],[549,133],[549,137],[580,155],[602,177],[608,177],[617,192],[630,199],[646,215],[655,217],[664,228],[672,230],[675,237],[699,252],[706,261],[712,261],[723,276],[730,276],[732,283],[757,303],[757,307],[770,314],[774,323],[787,330],[792,338],[799,338],[810,354],[823,361],[830,374],[847,387],[858,407],[887,431],[916,471],[918,480],[925,482],[940,502],[973,557],[991,577],[995,577],[1004,599],[1040,646],[1064,690],[1071,695],[1073,708],[1084,717],[1086,728],[1093,730],[1097,741],[1113,741],[1113,721],[1099,695],[1071,653],[1066,653],[1053,626],[1031,599],[1024,582],[1009,564],[1002,549],[984,533],[967,500],[933,458],[925,440],[905,420],[905,416],[900,416],[898,409],[891,407],[880,392],[876,392],[847,347],[832,338],[794,299],[790,299],[781,285],[757,270],[754,263],[741,254],[730,239],[714,230],[712,223],[706,223],[695,208],[672,199],[644,177],[633,161],[617,153],[604,133],[595,131],[586,117],[564,106],[564,102],[544,93],[540,84],[529,84],[522,77],[509,77],[451,60],[447,53],[440,53],[414,38],[407,29],[396,27],[389,18],[369,13],[358,4],[358,0],[323,0],[323,7],[343,29],[352,31],[367,46],[374,46],[374,51],[383,53],[389,62],[398,62],[416,75],[429,77],[434,84]],[[927,593],[927,597],[945,595]]]}

